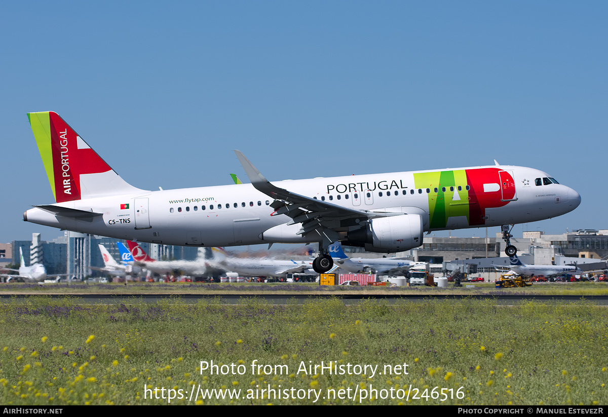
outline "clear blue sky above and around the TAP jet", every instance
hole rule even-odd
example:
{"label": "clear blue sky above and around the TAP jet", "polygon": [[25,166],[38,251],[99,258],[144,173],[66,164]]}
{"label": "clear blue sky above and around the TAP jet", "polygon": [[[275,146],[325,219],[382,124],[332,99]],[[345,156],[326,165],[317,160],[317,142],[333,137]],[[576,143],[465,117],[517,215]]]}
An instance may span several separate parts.
{"label": "clear blue sky above and around the TAP jet", "polygon": [[54,202],[26,117],[47,110],[139,188],[230,184],[234,149],[271,181],[497,159],[582,196],[516,233],[608,229],[607,21],[602,1],[1,2],[0,241],[60,235],[21,221]]}

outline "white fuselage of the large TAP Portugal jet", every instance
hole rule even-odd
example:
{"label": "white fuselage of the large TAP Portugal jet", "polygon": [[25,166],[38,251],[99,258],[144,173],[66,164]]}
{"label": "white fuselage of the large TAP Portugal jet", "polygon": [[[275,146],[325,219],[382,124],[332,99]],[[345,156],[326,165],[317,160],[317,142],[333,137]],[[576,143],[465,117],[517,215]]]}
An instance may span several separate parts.
{"label": "white fuselage of the large TAP Portugal jet", "polygon": [[[572,188],[534,182],[547,177],[533,168],[486,166],[272,184],[351,209],[420,215],[428,232],[539,221],[578,207],[581,198]],[[297,235],[297,224],[264,235],[291,220],[286,215],[272,215],[272,201],[251,184],[138,191],[54,204],[102,213],[92,219],[66,217],[35,207],[24,213],[24,220],[81,233],[181,246],[311,241]],[[345,232],[349,228],[337,230]]]}

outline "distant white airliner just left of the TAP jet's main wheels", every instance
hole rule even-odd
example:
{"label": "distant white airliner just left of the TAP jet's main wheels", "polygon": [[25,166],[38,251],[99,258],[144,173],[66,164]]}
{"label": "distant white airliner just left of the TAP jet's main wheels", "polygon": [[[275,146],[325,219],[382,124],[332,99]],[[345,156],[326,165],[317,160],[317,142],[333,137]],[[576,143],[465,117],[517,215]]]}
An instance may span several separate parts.
{"label": "distant white airliner just left of the TAP jet's main wheels", "polygon": [[278,277],[288,274],[315,274],[313,261],[275,260],[269,258],[235,258],[219,248],[213,248],[211,266],[237,272],[241,277]]}

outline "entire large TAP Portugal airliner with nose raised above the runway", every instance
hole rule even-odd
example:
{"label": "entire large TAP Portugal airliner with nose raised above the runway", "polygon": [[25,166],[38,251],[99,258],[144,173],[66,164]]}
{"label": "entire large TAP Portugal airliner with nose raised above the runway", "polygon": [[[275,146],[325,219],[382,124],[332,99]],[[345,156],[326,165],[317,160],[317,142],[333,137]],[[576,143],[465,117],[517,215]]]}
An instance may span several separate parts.
{"label": "entire large TAP Portugal airliner with nose raised above the runway", "polygon": [[534,168],[494,166],[279,181],[271,184],[240,152],[251,184],[147,191],[126,183],[55,112],[28,114],[55,204],[25,221],[119,239],[181,246],[319,243],[316,272],[329,271],[330,244],[400,252],[424,232],[502,226],[574,210],[581,196]]}

